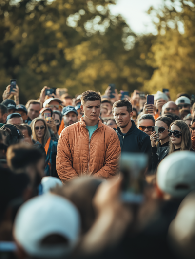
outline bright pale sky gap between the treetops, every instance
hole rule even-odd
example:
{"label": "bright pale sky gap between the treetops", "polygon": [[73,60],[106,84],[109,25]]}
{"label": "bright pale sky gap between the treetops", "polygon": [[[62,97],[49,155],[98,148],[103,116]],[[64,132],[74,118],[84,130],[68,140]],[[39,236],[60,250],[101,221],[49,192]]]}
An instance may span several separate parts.
{"label": "bright pale sky gap between the treetops", "polygon": [[163,0],[117,0],[116,5],[110,5],[112,14],[121,14],[127,24],[136,34],[156,34],[155,26],[146,11],[150,6],[158,8]]}

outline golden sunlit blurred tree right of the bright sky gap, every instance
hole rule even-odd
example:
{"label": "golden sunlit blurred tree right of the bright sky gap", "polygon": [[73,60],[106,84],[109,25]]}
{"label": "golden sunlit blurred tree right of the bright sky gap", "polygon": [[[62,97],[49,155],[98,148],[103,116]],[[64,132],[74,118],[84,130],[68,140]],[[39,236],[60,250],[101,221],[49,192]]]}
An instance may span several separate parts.
{"label": "golden sunlit blurred tree right of the bright sky gap", "polygon": [[168,88],[172,98],[179,92],[195,94],[195,0],[165,3],[160,10],[149,10],[158,35],[146,57],[155,71],[143,90]]}

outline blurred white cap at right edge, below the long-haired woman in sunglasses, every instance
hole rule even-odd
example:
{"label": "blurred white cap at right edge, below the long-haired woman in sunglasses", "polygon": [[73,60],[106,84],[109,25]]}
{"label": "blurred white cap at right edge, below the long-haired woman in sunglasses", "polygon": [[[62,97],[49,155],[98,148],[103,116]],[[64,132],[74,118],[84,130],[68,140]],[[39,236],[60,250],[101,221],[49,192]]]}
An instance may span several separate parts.
{"label": "blurred white cap at right edge, below the long-haired woman in sunglasses", "polygon": [[195,152],[177,151],[163,159],[156,181],[159,189],[174,198],[183,198],[195,189]]}

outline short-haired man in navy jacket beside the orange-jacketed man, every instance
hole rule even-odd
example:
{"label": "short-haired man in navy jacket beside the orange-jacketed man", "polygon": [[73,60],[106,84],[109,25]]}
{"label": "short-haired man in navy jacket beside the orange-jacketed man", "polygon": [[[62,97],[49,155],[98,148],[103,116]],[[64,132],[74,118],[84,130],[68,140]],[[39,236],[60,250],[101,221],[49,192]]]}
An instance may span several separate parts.
{"label": "short-haired man in navy jacket beside the orange-jacketed man", "polygon": [[117,135],[120,140],[121,152],[140,152],[151,156],[150,137],[136,127],[132,105],[128,100],[119,100],[113,104],[113,114],[117,123]]}

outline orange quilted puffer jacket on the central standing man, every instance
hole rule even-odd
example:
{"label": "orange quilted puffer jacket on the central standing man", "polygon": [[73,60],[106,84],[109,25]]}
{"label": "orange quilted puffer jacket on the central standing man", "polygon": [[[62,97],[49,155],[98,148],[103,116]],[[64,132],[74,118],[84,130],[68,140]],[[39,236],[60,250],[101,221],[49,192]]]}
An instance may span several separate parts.
{"label": "orange quilted puffer jacket on the central standing man", "polygon": [[119,171],[120,141],[115,130],[98,119],[89,139],[85,126],[81,117],[59,136],[56,169],[62,182],[86,175],[109,178]]}

